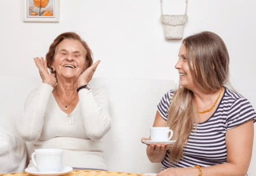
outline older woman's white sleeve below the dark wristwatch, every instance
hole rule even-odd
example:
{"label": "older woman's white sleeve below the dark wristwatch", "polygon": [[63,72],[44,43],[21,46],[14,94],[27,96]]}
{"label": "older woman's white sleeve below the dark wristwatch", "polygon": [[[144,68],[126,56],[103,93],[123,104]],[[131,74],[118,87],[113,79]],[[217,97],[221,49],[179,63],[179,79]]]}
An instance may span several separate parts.
{"label": "older woman's white sleeve below the dark wristwatch", "polygon": [[81,89],[79,101],[86,135],[92,140],[101,139],[111,127],[107,92],[103,89]]}

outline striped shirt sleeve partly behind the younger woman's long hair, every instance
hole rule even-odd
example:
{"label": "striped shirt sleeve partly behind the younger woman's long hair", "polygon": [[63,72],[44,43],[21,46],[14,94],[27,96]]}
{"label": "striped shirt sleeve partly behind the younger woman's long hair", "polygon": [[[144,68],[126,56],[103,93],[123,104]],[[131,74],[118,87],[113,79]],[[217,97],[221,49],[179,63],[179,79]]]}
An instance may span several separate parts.
{"label": "striped shirt sleeve partly behind the younger woman's long hair", "polygon": [[168,111],[170,107],[170,98],[172,97],[173,91],[168,91],[163,98],[160,100],[160,102],[157,105],[157,110],[160,113],[161,117],[165,120],[168,119]]}

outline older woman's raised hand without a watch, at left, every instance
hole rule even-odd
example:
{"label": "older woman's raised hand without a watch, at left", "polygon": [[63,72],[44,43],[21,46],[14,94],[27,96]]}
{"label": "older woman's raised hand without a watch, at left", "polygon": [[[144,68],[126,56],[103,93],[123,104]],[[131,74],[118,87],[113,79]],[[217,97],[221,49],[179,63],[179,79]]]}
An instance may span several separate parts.
{"label": "older woman's raised hand without a watch, at left", "polygon": [[39,69],[42,82],[54,87],[57,83],[57,80],[53,73],[49,74],[48,68],[47,68],[47,60],[44,60],[44,58],[42,57],[41,58],[35,57],[34,60],[37,68]]}

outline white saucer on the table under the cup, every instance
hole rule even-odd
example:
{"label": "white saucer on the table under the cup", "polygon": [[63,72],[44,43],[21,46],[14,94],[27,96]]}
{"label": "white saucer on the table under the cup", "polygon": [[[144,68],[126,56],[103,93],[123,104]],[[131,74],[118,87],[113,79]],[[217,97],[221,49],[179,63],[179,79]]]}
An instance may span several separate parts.
{"label": "white saucer on the table under the cup", "polygon": [[39,175],[39,176],[56,176],[56,175],[63,175],[65,173],[69,173],[73,171],[73,169],[69,166],[63,166],[63,169],[61,171],[58,172],[39,172],[37,170],[37,168],[35,167],[31,167],[31,168],[27,168],[25,169],[25,172],[28,172],[32,175]]}

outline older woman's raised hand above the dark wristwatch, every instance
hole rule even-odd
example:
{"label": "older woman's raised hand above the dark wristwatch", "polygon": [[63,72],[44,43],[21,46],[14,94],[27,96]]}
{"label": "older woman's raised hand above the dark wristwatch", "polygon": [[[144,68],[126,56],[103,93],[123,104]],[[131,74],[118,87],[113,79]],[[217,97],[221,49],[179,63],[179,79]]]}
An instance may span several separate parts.
{"label": "older woman's raised hand above the dark wristwatch", "polygon": [[77,85],[78,87],[88,84],[91,81],[93,73],[95,73],[97,66],[99,65],[100,60],[97,60],[96,63],[88,67],[79,77]]}

